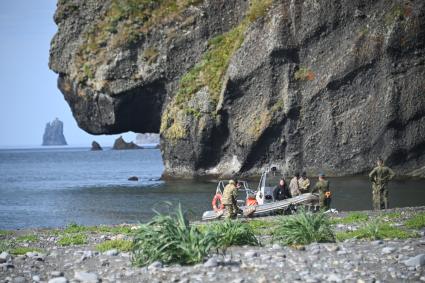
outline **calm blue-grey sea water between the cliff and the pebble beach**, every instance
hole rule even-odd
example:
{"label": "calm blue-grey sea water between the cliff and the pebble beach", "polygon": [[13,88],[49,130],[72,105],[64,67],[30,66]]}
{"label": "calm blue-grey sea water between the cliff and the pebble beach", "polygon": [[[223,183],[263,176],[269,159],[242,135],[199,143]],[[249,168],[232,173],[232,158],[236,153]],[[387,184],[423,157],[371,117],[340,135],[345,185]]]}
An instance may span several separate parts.
{"label": "calm blue-grey sea water between the cliff and the pebble beach", "polygon": [[[216,181],[161,181],[157,149],[90,151],[89,148],[0,150],[0,229],[137,223],[166,202],[180,203],[192,219],[211,209]],[[128,177],[138,176],[138,182]],[[312,179],[314,183],[315,180]],[[256,180],[250,181],[256,188]],[[365,177],[331,179],[332,207],[370,209]],[[425,205],[425,180],[390,184],[393,207]]]}

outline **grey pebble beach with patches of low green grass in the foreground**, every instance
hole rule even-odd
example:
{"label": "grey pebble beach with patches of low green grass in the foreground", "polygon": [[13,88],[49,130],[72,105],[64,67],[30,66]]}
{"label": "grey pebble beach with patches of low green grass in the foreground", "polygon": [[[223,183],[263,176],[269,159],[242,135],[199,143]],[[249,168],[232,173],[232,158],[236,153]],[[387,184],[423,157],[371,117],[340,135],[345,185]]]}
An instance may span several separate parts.
{"label": "grey pebble beach with patches of low green grass in the foreground", "polygon": [[337,238],[361,229],[364,223],[357,220],[362,217],[379,218],[411,234],[403,239],[348,237],[301,246],[271,241],[270,229],[279,216],[252,218],[245,222],[254,227],[261,247],[230,247],[225,254],[213,253],[191,266],[133,266],[128,244],[137,231],[134,224],[2,230],[0,243],[14,241],[21,250],[15,247],[0,255],[0,282],[419,282],[425,281],[425,266],[406,263],[425,253],[425,227],[406,226],[419,214],[425,215],[425,206],[340,212],[331,216]]}

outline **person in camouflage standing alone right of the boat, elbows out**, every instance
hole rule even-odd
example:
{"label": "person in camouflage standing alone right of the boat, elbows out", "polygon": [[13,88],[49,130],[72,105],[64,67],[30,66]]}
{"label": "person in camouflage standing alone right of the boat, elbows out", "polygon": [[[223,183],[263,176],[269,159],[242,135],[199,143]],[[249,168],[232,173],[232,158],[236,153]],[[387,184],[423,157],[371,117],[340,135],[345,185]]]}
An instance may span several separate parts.
{"label": "person in camouflage standing alone right of the boat, elbows out", "polygon": [[378,166],[369,173],[369,179],[372,182],[372,201],[373,209],[388,209],[388,182],[394,178],[394,171],[384,166],[381,158],[377,160]]}

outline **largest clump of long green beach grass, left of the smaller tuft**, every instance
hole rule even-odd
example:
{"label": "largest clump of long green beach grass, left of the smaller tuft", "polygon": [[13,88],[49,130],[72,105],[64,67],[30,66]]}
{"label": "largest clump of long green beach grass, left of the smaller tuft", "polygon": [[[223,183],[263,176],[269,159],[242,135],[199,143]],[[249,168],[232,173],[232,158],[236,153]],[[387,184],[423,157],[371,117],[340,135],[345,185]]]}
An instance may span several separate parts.
{"label": "largest clump of long green beach grass, left of the smaller tuft", "polygon": [[240,221],[189,225],[187,213],[179,205],[175,212],[157,213],[152,221],[140,226],[133,240],[132,262],[136,266],[154,261],[188,265],[229,246],[259,244],[253,229]]}

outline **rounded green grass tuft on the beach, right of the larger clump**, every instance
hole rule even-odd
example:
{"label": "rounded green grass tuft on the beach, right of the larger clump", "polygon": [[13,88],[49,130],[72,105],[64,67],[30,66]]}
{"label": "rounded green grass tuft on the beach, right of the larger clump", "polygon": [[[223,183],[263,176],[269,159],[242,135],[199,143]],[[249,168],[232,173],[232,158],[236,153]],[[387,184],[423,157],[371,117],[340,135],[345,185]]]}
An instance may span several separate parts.
{"label": "rounded green grass tuft on the beach, right of the larger clump", "polygon": [[334,242],[331,222],[323,212],[301,210],[293,216],[284,216],[273,231],[273,238],[284,245],[306,245],[313,242]]}

